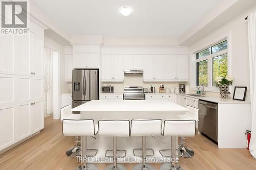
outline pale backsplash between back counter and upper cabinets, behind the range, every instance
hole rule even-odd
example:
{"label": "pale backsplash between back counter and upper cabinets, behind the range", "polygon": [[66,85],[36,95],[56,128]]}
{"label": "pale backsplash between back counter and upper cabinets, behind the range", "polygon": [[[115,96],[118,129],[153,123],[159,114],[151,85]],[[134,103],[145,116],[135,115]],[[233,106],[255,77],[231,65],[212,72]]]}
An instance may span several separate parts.
{"label": "pale backsplash between back counter and upper cabinets, behind the range", "polygon": [[188,85],[188,82],[143,82],[143,75],[124,75],[124,81],[123,82],[102,82],[101,86],[114,86],[114,92],[115,93],[123,93],[123,87],[124,86],[143,86],[150,89],[150,86],[156,87],[156,92],[158,92],[159,87],[161,84],[164,84],[164,88],[174,88],[178,87],[179,84],[186,84]]}

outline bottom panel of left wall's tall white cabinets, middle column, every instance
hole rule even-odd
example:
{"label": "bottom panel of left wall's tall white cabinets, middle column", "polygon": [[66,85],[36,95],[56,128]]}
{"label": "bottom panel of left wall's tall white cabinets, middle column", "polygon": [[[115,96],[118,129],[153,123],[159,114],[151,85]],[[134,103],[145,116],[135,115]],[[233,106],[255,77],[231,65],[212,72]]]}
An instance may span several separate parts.
{"label": "bottom panel of left wall's tall white cabinets, middle column", "polygon": [[24,138],[31,133],[31,104],[19,106],[19,137]]}

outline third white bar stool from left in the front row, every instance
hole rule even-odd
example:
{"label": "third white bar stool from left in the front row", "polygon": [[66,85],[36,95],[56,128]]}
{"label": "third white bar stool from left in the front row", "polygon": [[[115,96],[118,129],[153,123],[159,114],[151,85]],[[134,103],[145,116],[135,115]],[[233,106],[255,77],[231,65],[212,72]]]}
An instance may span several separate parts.
{"label": "third white bar stool from left in the front row", "polygon": [[[151,165],[146,164],[148,156],[154,156],[153,149],[146,148],[146,136],[161,136],[162,135],[162,120],[161,119],[145,119],[145,120],[131,120],[131,136],[142,136],[142,149],[134,149],[134,156],[142,157],[142,164],[136,165],[133,169],[155,169]],[[136,155],[135,151],[141,150],[141,155]],[[153,154],[147,155],[147,151],[152,151]]]}

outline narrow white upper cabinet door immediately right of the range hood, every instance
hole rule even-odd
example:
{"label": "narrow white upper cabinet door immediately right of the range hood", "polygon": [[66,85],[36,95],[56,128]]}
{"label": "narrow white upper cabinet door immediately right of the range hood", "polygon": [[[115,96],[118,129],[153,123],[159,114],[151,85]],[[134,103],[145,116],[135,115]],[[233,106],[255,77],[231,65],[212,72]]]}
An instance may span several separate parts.
{"label": "narrow white upper cabinet door immediately right of the range hood", "polygon": [[143,57],[143,80],[153,80],[153,79],[154,79],[153,57],[144,56]]}

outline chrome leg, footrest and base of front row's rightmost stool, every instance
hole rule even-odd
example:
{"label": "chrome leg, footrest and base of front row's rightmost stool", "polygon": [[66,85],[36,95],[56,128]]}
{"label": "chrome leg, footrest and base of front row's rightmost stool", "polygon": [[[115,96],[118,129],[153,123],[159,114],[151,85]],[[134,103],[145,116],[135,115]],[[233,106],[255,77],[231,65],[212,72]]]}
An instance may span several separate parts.
{"label": "chrome leg, footrest and base of front row's rightmost stool", "polygon": [[[160,170],[183,170],[182,167],[178,165],[178,155],[176,155],[176,137],[171,137],[171,155],[170,155],[170,163],[164,163],[160,166]],[[159,151],[160,152],[160,151]],[[161,152],[160,152],[161,154]],[[162,155],[162,154],[161,154]],[[167,157],[167,156],[165,156]]]}

